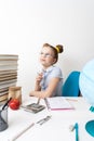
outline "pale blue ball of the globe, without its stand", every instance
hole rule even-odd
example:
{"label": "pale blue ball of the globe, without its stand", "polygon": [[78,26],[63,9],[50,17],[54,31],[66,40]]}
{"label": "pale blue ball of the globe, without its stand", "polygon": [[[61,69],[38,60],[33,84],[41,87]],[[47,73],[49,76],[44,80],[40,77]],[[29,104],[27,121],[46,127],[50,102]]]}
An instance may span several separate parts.
{"label": "pale blue ball of the globe, without its stand", "polygon": [[81,94],[94,106],[94,59],[80,73],[79,87]]}

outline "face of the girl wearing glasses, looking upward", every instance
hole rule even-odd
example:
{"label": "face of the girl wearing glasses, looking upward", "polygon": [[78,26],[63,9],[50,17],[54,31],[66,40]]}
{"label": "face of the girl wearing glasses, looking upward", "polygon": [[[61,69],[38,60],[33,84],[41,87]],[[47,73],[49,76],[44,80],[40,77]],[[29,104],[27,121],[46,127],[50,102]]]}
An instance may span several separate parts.
{"label": "face of the girl wearing glasses, looking upward", "polygon": [[55,63],[54,52],[50,47],[43,47],[40,52],[40,63],[44,68],[50,67]]}

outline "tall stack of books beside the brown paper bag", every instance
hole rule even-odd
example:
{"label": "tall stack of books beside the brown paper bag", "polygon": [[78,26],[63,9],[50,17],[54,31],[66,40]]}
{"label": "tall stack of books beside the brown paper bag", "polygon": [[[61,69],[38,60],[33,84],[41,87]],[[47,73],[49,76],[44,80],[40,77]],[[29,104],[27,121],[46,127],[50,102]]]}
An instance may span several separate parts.
{"label": "tall stack of books beside the brown paper bag", "polygon": [[0,54],[0,103],[8,100],[9,87],[16,86],[18,55]]}

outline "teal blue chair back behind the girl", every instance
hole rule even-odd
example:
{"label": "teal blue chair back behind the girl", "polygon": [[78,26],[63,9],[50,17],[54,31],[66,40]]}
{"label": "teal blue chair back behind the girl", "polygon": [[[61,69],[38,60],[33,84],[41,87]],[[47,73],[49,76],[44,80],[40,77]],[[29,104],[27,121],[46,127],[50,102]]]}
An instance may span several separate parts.
{"label": "teal blue chair back behind the girl", "polygon": [[73,70],[69,74],[62,88],[63,97],[79,97],[79,76],[80,72]]}

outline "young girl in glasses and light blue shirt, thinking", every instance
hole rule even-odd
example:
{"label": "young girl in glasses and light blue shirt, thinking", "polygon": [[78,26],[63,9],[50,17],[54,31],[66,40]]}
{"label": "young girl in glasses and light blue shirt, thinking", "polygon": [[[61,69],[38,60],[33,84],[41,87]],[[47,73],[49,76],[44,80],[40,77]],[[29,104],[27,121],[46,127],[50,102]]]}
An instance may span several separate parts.
{"label": "young girl in glasses and light blue shirt, thinking", "polygon": [[62,95],[63,75],[59,67],[54,64],[58,60],[58,53],[64,51],[62,44],[53,47],[44,43],[40,52],[41,73],[36,78],[35,91],[29,95],[44,99],[48,97]]}

